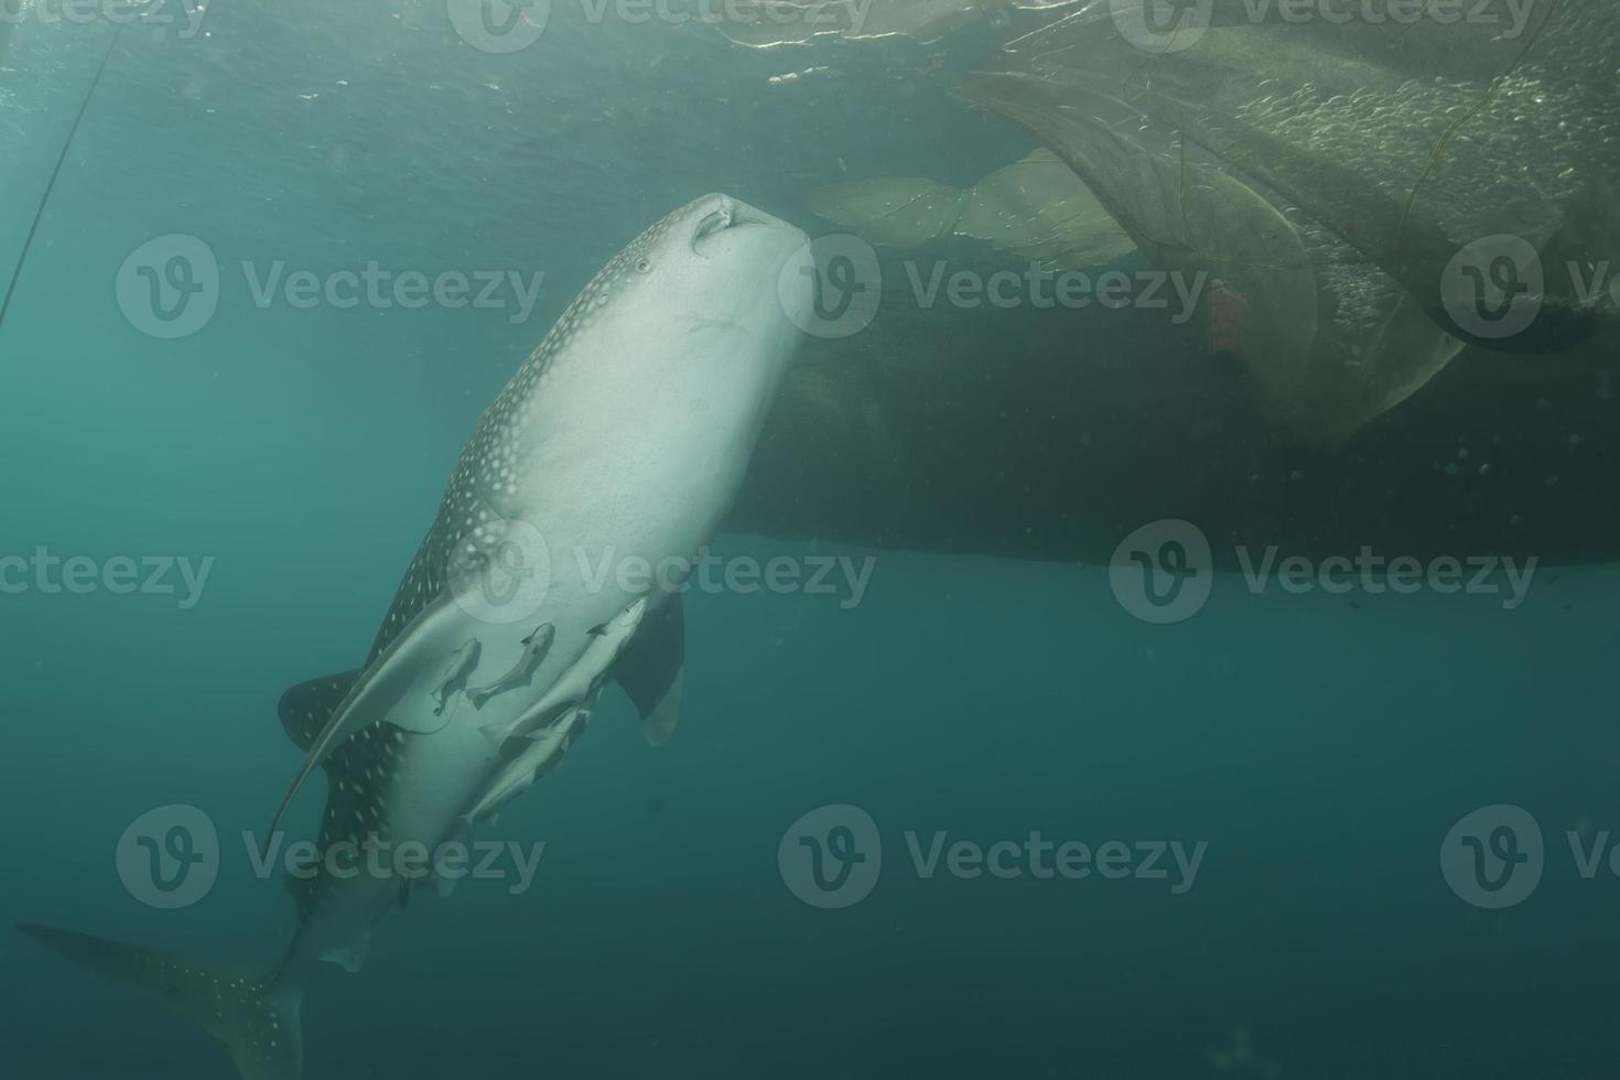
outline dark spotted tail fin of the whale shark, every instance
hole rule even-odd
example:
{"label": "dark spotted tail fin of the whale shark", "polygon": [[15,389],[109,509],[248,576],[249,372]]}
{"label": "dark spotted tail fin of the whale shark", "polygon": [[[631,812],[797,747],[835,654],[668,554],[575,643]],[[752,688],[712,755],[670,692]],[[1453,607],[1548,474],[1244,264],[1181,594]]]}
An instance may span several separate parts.
{"label": "dark spotted tail fin of the whale shark", "polygon": [[18,929],[79,967],[151,994],[190,1017],[230,1048],[243,1080],[298,1080],[301,989],[237,967],[181,960],[70,929],[34,923]]}

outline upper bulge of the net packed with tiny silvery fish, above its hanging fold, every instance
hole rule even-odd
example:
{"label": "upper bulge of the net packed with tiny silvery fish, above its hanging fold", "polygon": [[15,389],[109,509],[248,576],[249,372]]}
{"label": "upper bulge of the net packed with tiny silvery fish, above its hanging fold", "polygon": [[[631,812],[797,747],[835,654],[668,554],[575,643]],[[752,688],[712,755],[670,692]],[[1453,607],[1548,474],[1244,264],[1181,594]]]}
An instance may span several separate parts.
{"label": "upper bulge of the net packed with tiny silvery fish, above its hanging fold", "polygon": [[1092,0],[1006,50],[1055,94],[969,94],[1184,136],[1445,330],[1550,351],[1615,316],[1617,57],[1610,0]]}

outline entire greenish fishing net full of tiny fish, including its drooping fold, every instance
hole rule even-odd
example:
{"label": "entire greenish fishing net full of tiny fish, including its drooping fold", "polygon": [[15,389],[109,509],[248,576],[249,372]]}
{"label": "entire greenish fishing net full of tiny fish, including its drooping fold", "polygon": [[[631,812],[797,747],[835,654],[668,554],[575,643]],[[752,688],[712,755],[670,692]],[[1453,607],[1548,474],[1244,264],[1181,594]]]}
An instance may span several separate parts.
{"label": "entire greenish fishing net full of tiny fish, including its drooping fold", "polygon": [[1617,45],[1609,0],[1092,0],[964,92],[1210,275],[1212,347],[1332,440],[1463,342],[1612,332]]}

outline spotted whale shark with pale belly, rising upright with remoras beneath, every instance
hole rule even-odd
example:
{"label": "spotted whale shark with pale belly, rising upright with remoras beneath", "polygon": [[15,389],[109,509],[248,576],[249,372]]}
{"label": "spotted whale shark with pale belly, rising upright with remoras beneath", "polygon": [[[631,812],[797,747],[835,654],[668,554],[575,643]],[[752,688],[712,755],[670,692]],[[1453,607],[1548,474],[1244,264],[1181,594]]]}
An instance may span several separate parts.
{"label": "spotted whale shark with pale belly, rising upright with remoras beneath", "polygon": [[[556,767],[609,682],[650,740],[669,735],[679,589],[586,570],[604,554],[693,559],[718,529],[810,319],[810,269],[800,230],[710,194],[591,280],[478,423],[366,662],[282,696],[305,759],[272,834],[324,771],[319,853],[467,837]],[[293,1080],[311,972],[360,970],[416,879],[319,857],[295,870],[298,926],[264,968],[21,929],[191,1017],[245,1080]]]}

